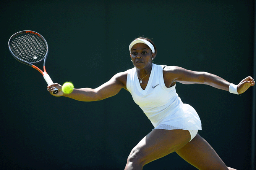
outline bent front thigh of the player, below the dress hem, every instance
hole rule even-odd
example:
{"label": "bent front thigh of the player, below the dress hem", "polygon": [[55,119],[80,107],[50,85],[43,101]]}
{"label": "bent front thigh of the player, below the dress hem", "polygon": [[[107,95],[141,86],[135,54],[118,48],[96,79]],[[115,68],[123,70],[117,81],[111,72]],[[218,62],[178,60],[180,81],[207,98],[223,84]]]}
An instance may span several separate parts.
{"label": "bent front thigh of the player, below the dress hem", "polygon": [[190,141],[188,130],[153,129],[136,145],[128,157],[128,162],[137,161],[145,165],[182,148]]}

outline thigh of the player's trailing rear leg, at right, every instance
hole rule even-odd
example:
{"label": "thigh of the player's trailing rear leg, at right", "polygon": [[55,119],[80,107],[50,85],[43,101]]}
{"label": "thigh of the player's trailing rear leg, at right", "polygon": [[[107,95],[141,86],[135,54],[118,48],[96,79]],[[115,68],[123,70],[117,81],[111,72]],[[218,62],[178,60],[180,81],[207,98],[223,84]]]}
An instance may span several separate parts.
{"label": "thigh of the player's trailing rear leg, at right", "polygon": [[228,170],[211,145],[199,134],[176,153],[199,170]]}

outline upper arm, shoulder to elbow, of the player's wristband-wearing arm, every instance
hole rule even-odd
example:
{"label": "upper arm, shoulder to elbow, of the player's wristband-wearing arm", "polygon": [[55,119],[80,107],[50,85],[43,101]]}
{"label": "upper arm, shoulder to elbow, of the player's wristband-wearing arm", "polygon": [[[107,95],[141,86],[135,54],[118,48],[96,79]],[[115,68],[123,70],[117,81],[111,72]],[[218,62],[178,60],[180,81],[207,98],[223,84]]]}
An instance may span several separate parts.
{"label": "upper arm, shoulder to elbow, of the player's wristband-wearing arm", "polygon": [[172,83],[179,82],[182,84],[203,84],[205,81],[206,72],[186,70],[185,68],[177,66],[165,67],[164,70]]}

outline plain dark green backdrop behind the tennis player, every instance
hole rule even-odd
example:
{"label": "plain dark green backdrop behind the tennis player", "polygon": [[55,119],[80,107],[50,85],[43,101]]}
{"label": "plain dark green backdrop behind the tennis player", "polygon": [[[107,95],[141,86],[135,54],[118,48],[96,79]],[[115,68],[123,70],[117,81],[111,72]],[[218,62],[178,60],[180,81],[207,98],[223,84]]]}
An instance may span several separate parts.
{"label": "plain dark green backdrop behind the tennis player", "polygon": [[[156,44],[155,64],[238,84],[253,75],[253,16],[253,0],[2,1],[0,166],[122,170],[131,149],[153,129],[124,89],[99,102],[50,95],[41,74],[8,51],[14,33],[40,33],[49,45],[46,68],[53,82],[72,81],[75,88],[98,87],[132,68],[128,46],[139,36]],[[176,87],[201,118],[199,134],[225,164],[251,168],[252,88],[235,95],[200,84]],[[196,168],[172,153],[144,169]]]}

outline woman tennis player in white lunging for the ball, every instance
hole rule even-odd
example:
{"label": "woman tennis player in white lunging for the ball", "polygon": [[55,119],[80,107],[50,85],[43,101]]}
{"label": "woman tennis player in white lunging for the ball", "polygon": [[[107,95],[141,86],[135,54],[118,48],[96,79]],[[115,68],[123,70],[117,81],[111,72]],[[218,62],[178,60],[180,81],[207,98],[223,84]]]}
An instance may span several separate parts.
{"label": "woman tennis player in white lunging for the ball", "polygon": [[[142,170],[153,160],[172,152],[200,170],[235,170],[227,167],[214,149],[199,134],[201,121],[196,111],[181,102],[175,86],[183,84],[207,84],[235,94],[254,86],[250,76],[238,85],[228,83],[219,76],[186,70],[177,66],[156,65],[154,43],[147,38],[137,38],[129,46],[134,68],[117,73],[107,83],[96,89],[74,89],[70,94],[62,92],[60,84],[47,86],[54,96],[65,96],[79,101],[97,101],[116,95],[122,88],[129,91],[155,129],[136,145],[128,156],[125,170]],[[53,94],[56,87],[59,92]]]}

